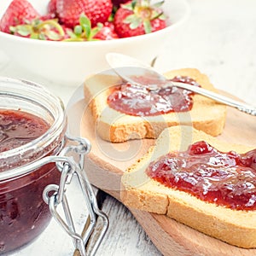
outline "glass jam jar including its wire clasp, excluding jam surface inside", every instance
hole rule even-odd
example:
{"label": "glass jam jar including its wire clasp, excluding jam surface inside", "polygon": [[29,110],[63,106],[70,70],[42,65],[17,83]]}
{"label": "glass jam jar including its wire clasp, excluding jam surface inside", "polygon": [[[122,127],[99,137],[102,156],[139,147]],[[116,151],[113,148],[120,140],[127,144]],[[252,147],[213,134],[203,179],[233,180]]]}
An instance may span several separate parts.
{"label": "glass jam jar including its wire clasp, excluding jam surface inside", "polygon": [[[67,135],[67,116],[61,100],[41,85],[0,77],[0,109],[33,114],[48,127],[31,142],[0,152],[0,254],[35,239],[51,216],[72,238],[81,256],[88,254],[86,245],[96,232],[97,238],[94,236],[90,244],[91,254],[95,254],[108,230],[108,216],[99,209],[84,170],[90,142]],[[4,139],[1,129],[0,143]],[[74,225],[66,196],[74,176],[79,180],[76,185],[84,195],[84,210],[88,212],[83,232]],[[64,218],[58,213],[59,207]],[[101,230],[95,230],[98,218],[102,218]]]}

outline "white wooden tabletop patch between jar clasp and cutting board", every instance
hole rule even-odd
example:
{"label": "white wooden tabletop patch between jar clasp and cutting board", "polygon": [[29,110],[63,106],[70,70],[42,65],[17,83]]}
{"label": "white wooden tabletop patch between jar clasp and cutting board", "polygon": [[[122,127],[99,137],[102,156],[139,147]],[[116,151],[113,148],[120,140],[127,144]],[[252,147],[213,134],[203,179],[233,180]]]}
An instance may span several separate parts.
{"label": "white wooden tabletop patch between jar clasp and cutting board", "polygon": [[102,210],[109,216],[109,229],[97,255],[161,255],[131,212],[119,201],[108,195]]}

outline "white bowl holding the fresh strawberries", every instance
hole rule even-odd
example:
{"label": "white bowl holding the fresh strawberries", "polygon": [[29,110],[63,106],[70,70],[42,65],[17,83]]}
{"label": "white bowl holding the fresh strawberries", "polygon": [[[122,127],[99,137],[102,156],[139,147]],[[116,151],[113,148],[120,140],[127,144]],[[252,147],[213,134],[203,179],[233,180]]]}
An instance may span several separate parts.
{"label": "white bowl holding the fresh strawberries", "polygon": [[[29,0],[43,14],[48,1]],[[11,0],[0,1],[0,17]],[[185,0],[166,0],[163,9],[171,25],[158,32],[133,38],[120,38],[92,42],[52,42],[20,38],[0,32],[0,49],[29,72],[55,83],[77,86],[91,73],[109,68],[105,60],[108,52],[119,52],[151,61],[160,52],[168,38],[189,16],[189,5]]]}

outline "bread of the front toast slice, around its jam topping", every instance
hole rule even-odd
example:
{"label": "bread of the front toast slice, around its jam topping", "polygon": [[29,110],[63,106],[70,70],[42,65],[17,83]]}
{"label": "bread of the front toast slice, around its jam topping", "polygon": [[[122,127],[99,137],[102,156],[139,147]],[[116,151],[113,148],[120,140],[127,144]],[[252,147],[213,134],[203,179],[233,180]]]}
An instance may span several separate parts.
{"label": "bread of the front toast slice, around its jam topping", "polygon": [[177,189],[170,189],[145,174],[149,162],[173,151],[183,151],[191,143],[205,140],[222,152],[234,150],[245,153],[253,148],[224,143],[203,131],[189,126],[167,128],[142,159],[131,166],[122,177],[121,201],[127,207],[166,214],[208,236],[237,247],[256,247],[256,211],[232,210]]}

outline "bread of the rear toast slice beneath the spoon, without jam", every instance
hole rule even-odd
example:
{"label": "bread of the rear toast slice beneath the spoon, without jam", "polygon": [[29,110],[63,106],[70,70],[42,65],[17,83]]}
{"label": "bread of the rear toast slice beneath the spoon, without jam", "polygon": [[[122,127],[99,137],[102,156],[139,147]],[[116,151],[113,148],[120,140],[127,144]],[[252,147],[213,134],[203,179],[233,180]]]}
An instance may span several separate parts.
{"label": "bread of the rear toast slice beneath the spoon, without jam", "polygon": [[[170,71],[166,78],[177,75],[189,76],[201,87],[216,91],[207,76],[195,68]],[[147,117],[120,113],[109,108],[107,102],[111,86],[120,83],[117,76],[109,74],[97,74],[84,82],[84,98],[89,102],[96,121],[96,131],[104,140],[120,143],[130,139],[156,138],[166,127],[174,125],[192,125],[212,136],[218,136],[224,129],[226,106],[200,95],[193,96],[194,105],[189,112]]]}

